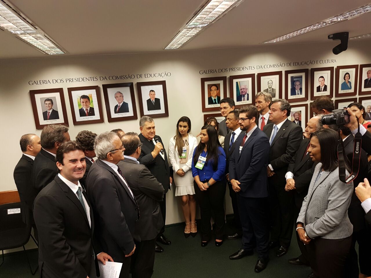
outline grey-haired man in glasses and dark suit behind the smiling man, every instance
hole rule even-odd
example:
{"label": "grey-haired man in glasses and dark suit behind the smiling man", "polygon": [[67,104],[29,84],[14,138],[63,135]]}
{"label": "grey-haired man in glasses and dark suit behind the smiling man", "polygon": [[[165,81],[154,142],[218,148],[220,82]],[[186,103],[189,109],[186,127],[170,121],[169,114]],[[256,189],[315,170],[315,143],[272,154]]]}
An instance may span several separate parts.
{"label": "grey-haired man in glasses and dark suit behind the smiling man", "polygon": [[135,251],[134,226],[139,218],[137,201],[117,163],[124,158],[124,145],[114,132],[96,136],[98,159],[86,179],[86,192],[95,216],[95,231],[102,250],[122,262],[120,278],[129,277]]}

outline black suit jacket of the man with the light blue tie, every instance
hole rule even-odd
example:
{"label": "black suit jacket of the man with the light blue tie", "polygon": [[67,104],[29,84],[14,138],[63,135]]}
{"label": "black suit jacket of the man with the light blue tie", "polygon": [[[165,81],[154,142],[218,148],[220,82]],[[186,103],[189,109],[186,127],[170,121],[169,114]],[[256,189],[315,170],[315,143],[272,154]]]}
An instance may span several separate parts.
{"label": "black suit jacket of the man with the light blue tie", "polygon": [[[268,140],[272,134],[273,125],[273,123],[270,123],[263,128],[263,132],[267,135]],[[270,145],[269,163],[273,167],[273,172],[275,172],[275,175],[272,176],[275,182],[278,182],[276,180],[278,178],[280,179],[279,182],[282,181],[286,184],[285,174],[292,157],[303,140],[302,133],[301,126],[286,119],[273,139],[272,145]]]}

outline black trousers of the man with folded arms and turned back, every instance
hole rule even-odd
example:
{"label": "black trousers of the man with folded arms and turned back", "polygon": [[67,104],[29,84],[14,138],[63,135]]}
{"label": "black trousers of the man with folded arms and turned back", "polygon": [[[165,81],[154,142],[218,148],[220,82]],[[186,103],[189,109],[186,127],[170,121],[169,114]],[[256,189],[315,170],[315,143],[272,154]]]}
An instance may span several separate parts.
{"label": "black trousers of the man with folded arms and turned back", "polygon": [[131,277],[150,278],[155,263],[156,239],[135,242],[135,252],[131,258]]}

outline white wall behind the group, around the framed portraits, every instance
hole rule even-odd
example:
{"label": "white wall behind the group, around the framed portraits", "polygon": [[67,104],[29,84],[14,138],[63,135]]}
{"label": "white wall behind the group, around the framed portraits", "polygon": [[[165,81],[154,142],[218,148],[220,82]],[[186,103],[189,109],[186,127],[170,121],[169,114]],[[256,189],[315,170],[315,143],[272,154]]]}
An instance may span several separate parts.
{"label": "white wall behind the group, around the framed portraits", "polygon": [[[0,146],[2,146],[1,156],[3,159],[0,160],[2,180],[0,183],[0,191],[16,189],[13,181],[13,169],[21,156],[19,148],[20,136],[24,133],[36,133],[37,135],[41,133],[41,130],[35,128],[29,90],[63,87],[68,120],[70,123],[69,133],[71,139],[74,139],[77,133],[83,129],[88,129],[96,133],[115,128],[122,128],[125,132],[139,132],[138,120],[115,123],[107,122],[101,81],[30,86],[30,80],[170,72],[171,76],[163,79],[143,78],[103,81],[106,84],[134,82],[135,97],[138,103],[137,86],[135,83],[166,80],[169,117],[156,118],[155,124],[156,133],[161,136],[164,142],[168,142],[170,137],[174,136],[175,125],[181,116],[185,115],[191,119],[193,134],[197,134],[203,125],[203,113],[201,112],[200,102],[200,78],[202,77],[371,63],[371,41],[350,42],[348,50],[339,55],[332,54],[332,47],[334,46],[335,43],[331,42],[325,44],[259,46],[190,52],[178,51],[166,53],[2,60],[0,61],[0,117],[2,130]],[[336,63],[317,64],[312,66],[285,66],[276,69],[255,69],[209,75],[200,75],[199,73],[200,70],[207,69],[243,66],[255,66],[256,68],[256,65],[274,63],[286,64],[290,62],[319,59],[335,59]],[[283,75],[283,83],[285,81],[284,79]],[[93,85],[99,85],[100,87],[104,123],[73,126],[67,88]],[[283,86],[285,86],[285,84],[283,84]],[[227,87],[229,88],[229,86]],[[308,100],[306,103],[309,102]],[[300,102],[295,104],[300,104]],[[180,105],[183,108],[181,108]],[[138,105],[137,111],[139,118]],[[209,113],[217,113],[217,111]],[[168,147],[167,144],[165,144],[165,148]],[[226,195],[228,196],[228,192]],[[232,209],[229,196],[226,200],[227,213],[231,213]],[[174,190],[167,193],[166,220],[166,224],[183,221],[180,206],[174,197]]]}

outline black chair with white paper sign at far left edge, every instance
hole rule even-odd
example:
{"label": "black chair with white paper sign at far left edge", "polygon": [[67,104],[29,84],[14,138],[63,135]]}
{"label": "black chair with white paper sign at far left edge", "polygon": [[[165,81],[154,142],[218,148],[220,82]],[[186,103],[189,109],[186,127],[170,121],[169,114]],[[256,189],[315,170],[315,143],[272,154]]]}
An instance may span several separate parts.
{"label": "black chair with white paper sign at far left edge", "polygon": [[[31,235],[31,213],[22,202],[0,205],[0,249],[3,257],[0,266],[4,263],[4,250],[22,246],[31,273],[35,275],[39,266],[36,267],[35,271],[32,271],[26,248],[24,248],[30,237],[35,241],[35,238]],[[35,244],[37,245],[36,241]]]}

